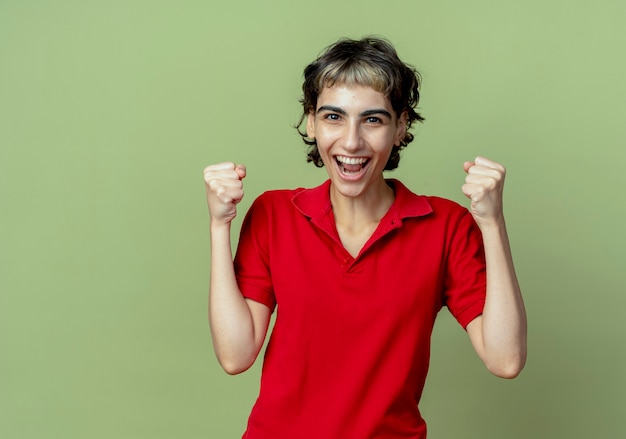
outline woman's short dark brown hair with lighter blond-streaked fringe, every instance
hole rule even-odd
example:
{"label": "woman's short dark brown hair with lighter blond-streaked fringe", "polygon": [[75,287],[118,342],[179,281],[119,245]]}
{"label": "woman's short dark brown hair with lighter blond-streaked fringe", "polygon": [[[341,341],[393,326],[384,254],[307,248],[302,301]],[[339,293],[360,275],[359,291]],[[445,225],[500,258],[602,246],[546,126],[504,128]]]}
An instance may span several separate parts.
{"label": "woman's short dark brown hair with lighter blond-streaked fringe", "polygon": [[400,60],[394,47],[379,37],[365,37],[361,40],[342,38],[328,46],[326,50],[304,69],[302,117],[296,128],[302,140],[309,146],[307,162],[324,166],[315,139],[310,139],[300,130],[302,123],[317,108],[317,98],[324,87],[335,84],[358,84],[372,87],[383,93],[391,102],[396,116],[406,111],[406,134],[400,146],[393,146],[386,171],[398,167],[400,150],[413,141],[409,132],[411,124],[424,118],[415,111],[419,103],[421,77],[415,68]]}

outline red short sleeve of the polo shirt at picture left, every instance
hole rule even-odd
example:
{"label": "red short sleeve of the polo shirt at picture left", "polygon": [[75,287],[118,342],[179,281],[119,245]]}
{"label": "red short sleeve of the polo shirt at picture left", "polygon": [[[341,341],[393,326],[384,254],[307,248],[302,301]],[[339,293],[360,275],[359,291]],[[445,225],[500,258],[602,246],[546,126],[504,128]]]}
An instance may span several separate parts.
{"label": "red short sleeve of the polo shirt at picture left", "polygon": [[244,297],[276,306],[269,261],[270,210],[267,197],[259,196],[243,220],[235,254],[235,276]]}

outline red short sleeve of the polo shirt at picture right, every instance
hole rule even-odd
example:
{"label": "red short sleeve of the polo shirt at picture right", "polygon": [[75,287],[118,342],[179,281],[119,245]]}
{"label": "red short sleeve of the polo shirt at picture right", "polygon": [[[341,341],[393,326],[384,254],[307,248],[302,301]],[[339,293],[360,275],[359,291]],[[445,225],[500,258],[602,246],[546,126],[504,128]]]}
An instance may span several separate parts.
{"label": "red short sleeve of the polo shirt at picture right", "polygon": [[445,304],[465,328],[482,314],[487,290],[487,270],[482,234],[464,209],[449,243],[444,278]]}

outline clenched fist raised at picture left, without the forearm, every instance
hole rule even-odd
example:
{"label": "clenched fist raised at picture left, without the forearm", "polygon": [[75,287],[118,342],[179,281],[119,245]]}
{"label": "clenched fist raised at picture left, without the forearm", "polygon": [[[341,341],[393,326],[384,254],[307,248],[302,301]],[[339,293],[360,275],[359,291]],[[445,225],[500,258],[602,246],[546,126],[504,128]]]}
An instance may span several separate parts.
{"label": "clenched fist raised at picture left, without the forearm", "polygon": [[219,163],[204,169],[207,204],[211,224],[229,224],[237,216],[237,204],[243,198],[244,165]]}

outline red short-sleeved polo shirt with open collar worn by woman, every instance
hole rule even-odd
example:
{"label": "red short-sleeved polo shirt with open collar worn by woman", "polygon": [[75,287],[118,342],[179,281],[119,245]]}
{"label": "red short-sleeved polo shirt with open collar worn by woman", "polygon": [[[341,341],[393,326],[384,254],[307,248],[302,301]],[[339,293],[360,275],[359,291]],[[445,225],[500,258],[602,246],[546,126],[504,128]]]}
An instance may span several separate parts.
{"label": "red short-sleeved polo shirt with open collar worn by woman", "polygon": [[277,316],[244,438],[426,437],[435,317],[447,306],[465,327],[482,313],[484,250],[467,209],[389,184],[394,204],[356,258],[329,181],[266,192],[246,215],[237,281]]}

